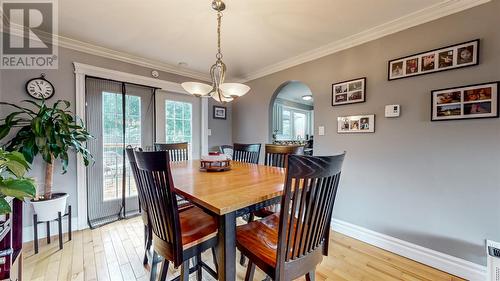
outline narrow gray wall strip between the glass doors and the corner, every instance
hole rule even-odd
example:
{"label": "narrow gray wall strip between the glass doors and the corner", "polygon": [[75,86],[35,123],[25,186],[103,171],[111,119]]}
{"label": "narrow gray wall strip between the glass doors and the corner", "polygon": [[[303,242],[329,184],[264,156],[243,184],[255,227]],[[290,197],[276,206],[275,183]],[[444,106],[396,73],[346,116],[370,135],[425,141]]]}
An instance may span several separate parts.
{"label": "narrow gray wall strip between the glass doors and the corner", "polygon": [[[226,120],[214,119],[214,105],[224,106],[226,110]],[[232,123],[232,103],[221,104],[214,99],[208,100],[208,128],[212,130],[212,135],[208,137],[208,151],[219,151],[219,146],[232,144],[233,135],[231,131]]]}

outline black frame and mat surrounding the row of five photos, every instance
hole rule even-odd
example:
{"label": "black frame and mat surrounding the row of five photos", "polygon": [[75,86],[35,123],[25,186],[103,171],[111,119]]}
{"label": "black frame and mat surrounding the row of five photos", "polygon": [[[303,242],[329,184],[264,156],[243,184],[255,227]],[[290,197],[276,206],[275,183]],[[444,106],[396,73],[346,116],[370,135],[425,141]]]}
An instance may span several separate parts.
{"label": "black frame and mat surrounding the row of five photos", "polygon": [[[470,58],[470,62],[463,61],[464,60],[463,58],[459,58],[458,52],[460,50],[462,50],[462,52],[467,51],[469,49],[467,49],[466,47],[470,47],[470,46],[474,47],[472,54],[471,54],[472,57]],[[462,42],[462,43],[458,43],[458,44],[449,45],[446,47],[441,47],[441,48],[437,48],[437,49],[433,49],[433,50],[420,52],[420,53],[412,54],[409,56],[404,56],[404,57],[400,57],[397,59],[393,59],[387,63],[387,80],[393,81],[393,80],[421,76],[421,75],[426,75],[426,74],[431,74],[431,73],[448,71],[448,70],[452,70],[452,69],[459,69],[459,68],[476,66],[480,62],[480,55],[479,55],[480,49],[481,49],[481,40],[474,39],[474,40],[470,40],[470,41],[466,41],[466,42]],[[440,55],[444,54],[444,52],[446,52],[447,50],[453,51],[453,53],[451,54],[452,55],[451,65],[440,67],[439,66]],[[432,68],[428,67],[428,69],[423,69],[424,68],[423,59],[425,57],[430,57],[431,55],[433,56]],[[409,74],[406,73],[408,71],[408,66],[407,66],[408,61],[415,60],[415,59],[417,60],[416,68],[418,68],[418,69],[412,73],[409,73]],[[399,74],[397,76],[391,75],[394,72],[394,70],[392,69],[392,65],[396,64],[396,63],[400,64],[401,71],[402,71],[401,74]]]}

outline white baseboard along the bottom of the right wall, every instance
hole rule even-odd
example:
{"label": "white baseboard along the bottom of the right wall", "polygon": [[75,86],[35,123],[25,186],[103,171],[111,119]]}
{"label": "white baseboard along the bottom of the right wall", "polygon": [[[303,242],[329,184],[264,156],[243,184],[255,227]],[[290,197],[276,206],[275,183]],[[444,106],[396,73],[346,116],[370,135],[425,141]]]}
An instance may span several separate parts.
{"label": "white baseboard along the bottom of the right wall", "polygon": [[333,230],[400,256],[471,281],[486,280],[486,267],[434,251],[342,220],[332,221]]}

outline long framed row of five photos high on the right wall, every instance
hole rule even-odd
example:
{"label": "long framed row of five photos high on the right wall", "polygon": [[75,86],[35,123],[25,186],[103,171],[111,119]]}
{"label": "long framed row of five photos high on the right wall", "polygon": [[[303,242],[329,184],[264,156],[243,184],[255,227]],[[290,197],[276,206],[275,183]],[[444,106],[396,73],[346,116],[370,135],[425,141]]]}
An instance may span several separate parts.
{"label": "long framed row of five photos high on the right wall", "polygon": [[479,64],[479,39],[389,61],[388,80]]}

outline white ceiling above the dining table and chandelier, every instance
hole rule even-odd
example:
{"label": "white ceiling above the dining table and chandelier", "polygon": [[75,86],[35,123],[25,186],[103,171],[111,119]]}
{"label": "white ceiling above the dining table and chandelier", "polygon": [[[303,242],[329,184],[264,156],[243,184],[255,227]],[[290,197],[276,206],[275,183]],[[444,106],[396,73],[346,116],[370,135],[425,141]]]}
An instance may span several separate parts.
{"label": "white ceiling above the dining table and chandelier", "polygon": [[[224,61],[233,80],[251,77],[332,42],[423,11],[431,13],[440,5],[467,2],[470,6],[470,2],[481,1],[226,0],[228,7],[222,20]],[[216,52],[216,17],[210,3],[63,0],[59,1],[59,34],[207,74]],[[179,67],[179,62],[187,66]]]}

